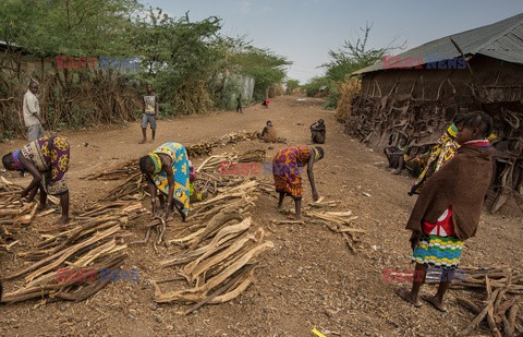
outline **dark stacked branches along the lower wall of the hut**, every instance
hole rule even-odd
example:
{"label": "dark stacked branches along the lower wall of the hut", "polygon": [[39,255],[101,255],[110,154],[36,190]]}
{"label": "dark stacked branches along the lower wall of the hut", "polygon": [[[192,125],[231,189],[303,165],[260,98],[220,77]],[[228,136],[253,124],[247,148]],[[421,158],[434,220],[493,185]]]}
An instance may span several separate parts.
{"label": "dark stacked branches along the lower wall of the hut", "polygon": [[345,132],[380,152],[387,146],[399,146],[406,139],[412,156],[436,144],[457,113],[486,110],[494,119],[497,137],[491,142],[496,165],[485,205],[495,213],[513,200],[522,208],[523,111],[512,111],[502,105],[482,107],[465,97],[454,98],[439,99],[439,91],[436,100],[415,99],[408,94],[362,94],[352,101]]}

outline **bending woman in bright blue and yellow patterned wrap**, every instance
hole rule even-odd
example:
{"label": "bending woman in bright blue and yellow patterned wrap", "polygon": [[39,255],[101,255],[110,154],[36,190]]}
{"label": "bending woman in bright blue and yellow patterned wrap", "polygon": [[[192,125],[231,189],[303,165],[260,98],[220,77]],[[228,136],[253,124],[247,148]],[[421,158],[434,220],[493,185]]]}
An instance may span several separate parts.
{"label": "bending woman in bright blue and yellow patterned wrap", "polygon": [[190,161],[185,147],[179,143],[166,143],[142,157],[139,169],[148,180],[153,213],[159,210],[156,204],[159,190],[160,209],[165,209],[165,217],[175,207],[185,220],[190,204]]}

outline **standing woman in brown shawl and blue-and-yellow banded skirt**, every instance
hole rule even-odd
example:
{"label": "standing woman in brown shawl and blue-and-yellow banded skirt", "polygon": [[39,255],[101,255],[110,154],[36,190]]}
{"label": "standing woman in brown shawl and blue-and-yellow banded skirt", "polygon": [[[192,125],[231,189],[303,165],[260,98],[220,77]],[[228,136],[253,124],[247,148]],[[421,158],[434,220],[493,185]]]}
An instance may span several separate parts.
{"label": "standing woman in brown shawl and blue-and-yellow banded skirt", "polygon": [[463,241],[474,237],[483,201],[492,176],[492,149],[487,135],[492,119],[483,111],[470,112],[458,123],[455,156],[428,179],[412,209],[406,229],[412,230],[411,246],[416,263],[412,290],[398,290],[405,301],[421,306],[418,293],[427,267],[443,270],[437,293],[422,299],[439,311],[447,311],[443,294],[455,277]]}

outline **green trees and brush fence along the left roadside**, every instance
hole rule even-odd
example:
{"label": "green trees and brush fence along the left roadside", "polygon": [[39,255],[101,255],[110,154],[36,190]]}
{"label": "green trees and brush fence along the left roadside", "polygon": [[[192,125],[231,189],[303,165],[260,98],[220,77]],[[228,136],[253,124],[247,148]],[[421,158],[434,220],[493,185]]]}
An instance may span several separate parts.
{"label": "green trees and brush fence along the left roadside", "polygon": [[[0,101],[0,111],[5,111],[0,136],[23,132],[8,111],[17,109],[29,77],[40,82],[42,115],[57,129],[137,118],[146,83],[160,98],[160,116],[231,108],[238,97],[251,99],[253,82],[246,91],[245,76],[254,80],[254,99],[262,99],[271,85],[285,79],[291,64],[254,47],[245,36],[227,36],[217,16],[194,21],[182,12],[174,17],[137,0],[31,3],[0,1],[0,40],[7,45],[0,67],[9,70],[0,74],[0,95],[14,97]],[[57,56],[139,58],[141,64],[132,72],[58,70]],[[44,71],[44,60],[51,69]],[[21,67],[23,62],[37,67]]]}

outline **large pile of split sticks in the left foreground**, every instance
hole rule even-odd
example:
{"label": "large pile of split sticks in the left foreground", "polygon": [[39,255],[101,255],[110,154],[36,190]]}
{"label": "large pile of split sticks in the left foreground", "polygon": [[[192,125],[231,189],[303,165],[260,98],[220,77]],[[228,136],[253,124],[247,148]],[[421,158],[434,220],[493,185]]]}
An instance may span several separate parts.
{"label": "large pile of split sticks in the left foreground", "polygon": [[109,282],[100,279],[100,270],[118,268],[125,258],[124,225],[143,212],[139,202],[95,204],[66,230],[40,228],[42,241],[33,251],[17,254],[36,262],[4,277],[4,280],[24,277],[24,285],[4,293],[2,300],[83,301],[95,294]]}

